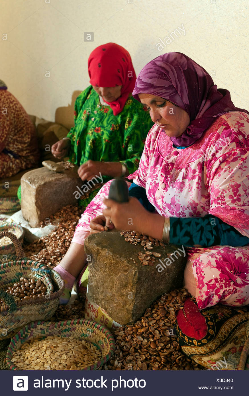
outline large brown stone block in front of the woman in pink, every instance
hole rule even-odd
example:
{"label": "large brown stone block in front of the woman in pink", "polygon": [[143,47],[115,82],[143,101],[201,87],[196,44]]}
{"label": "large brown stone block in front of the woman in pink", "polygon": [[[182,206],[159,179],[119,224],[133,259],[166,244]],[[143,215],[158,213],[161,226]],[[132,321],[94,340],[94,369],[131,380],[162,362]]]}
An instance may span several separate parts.
{"label": "large brown stone block in front of the woman in pink", "polygon": [[91,259],[89,298],[115,322],[123,325],[135,322],[157,297],[182,287],[187,260],[182,246],[154,247],[153,251],[161,257],[153,267],[141,264],[138,252],[143,247],[129,244],[120,232],[89,235],[84,247]]}

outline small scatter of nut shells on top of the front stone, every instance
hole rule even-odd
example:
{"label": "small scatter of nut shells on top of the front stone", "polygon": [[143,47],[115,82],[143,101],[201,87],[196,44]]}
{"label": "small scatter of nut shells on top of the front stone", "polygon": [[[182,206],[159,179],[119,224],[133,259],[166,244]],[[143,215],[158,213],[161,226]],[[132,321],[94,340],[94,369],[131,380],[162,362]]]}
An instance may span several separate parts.
{"label": "small scatter of nut shells on top of the front stone", "polygon": [[[152,236],[147,236],[142,232],[126,230],[121,231],[120,235],[124,236],[125,241],[130,244],[140,244],[143,246],[144,251],[139,251],[138,259],[141,261],[141,264],[148,265],[149,267],[154,266],[156,259],[161,257],[161,253],[152,251],[153,248],[157,246],[165,247],[165,243],[162,240],[154,239]],[[136,263],[135,260],[133,261]]]}

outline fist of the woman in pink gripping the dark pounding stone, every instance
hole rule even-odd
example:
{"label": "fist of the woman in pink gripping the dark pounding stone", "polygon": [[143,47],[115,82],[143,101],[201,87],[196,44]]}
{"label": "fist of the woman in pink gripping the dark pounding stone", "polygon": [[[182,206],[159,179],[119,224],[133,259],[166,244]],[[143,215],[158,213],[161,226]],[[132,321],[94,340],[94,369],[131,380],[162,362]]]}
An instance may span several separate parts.
{"label": "fist of the woman in pink gripping the dark pounding stone", "polygon": [[149,212],[137,198],[129,197],[129,202],[122,204],[109,199],[105,199],[103,202],[107,206],[107,209],[103,209],[103,215],[111,219],[117,230],[132,229],[142,232]]}

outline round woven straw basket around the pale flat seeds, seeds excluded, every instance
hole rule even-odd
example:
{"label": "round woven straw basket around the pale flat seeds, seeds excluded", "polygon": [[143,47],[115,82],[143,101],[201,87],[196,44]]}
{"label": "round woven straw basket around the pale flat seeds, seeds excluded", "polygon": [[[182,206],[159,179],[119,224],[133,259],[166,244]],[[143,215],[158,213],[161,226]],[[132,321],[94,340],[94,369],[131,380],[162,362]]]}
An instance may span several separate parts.
{"label": "round woven straw basket around the pale flat seeds, seeds excluded", "polygon": [[[20,349],[27,341],[34,341],[36,339],[44,339],[48,336],[70,337],[74,336],[76,339],[85,340],[93,343],[102,352],[101,360],[97,361],[92,366],[87,366],[84,370],[97,370],[103,366],[109,359],[112,358],[115,350],[115,341],[112,333],[106,327],[87,319],[66,320],[65,322],[34,322],[23,327],[11,339],[10,346],[6,355],[6,363],[10,370],[18,370],[19,368],[11,362],[13,352]],[[39,352],[39,351],[37,351]]]}

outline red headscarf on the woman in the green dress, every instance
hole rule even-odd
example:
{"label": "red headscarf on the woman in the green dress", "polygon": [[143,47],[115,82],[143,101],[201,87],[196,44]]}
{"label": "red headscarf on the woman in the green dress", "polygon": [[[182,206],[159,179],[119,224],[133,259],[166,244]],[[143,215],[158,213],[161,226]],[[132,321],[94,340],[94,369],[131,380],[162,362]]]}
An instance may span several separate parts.
{"label": "red headscarf on the woman in the green dress", "polygon": [[114,102],[106,102],[119,114],[133,91],[136,74],[131,57],[125,48],[115,43],[103,44],[95,48],[88,59],[90,84],[95,87],[115,87],[122,85],[121,95]]}

